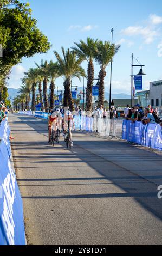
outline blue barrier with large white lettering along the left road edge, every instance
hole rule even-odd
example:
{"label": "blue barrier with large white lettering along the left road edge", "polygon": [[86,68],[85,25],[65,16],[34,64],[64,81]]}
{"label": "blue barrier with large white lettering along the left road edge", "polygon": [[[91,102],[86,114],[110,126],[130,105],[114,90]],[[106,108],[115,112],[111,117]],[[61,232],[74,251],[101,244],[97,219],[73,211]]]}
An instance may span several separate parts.
{"label": "blue barrier with large white lettering along the left road edge", "polygon": [[16,176],[10,164],[10,129],[0,124],[0,245],[25,245],[23,205]]}

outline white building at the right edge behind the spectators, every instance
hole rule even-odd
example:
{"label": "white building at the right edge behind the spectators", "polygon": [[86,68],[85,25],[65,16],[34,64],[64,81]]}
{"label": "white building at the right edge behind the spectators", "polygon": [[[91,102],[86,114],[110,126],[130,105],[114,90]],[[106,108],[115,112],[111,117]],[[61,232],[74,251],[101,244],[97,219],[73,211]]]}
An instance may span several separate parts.
{"label": "white building at the right edge behind the spectators", "polygon": [[162,106],[162,80],[150,82],[150,104],[153,108]]}

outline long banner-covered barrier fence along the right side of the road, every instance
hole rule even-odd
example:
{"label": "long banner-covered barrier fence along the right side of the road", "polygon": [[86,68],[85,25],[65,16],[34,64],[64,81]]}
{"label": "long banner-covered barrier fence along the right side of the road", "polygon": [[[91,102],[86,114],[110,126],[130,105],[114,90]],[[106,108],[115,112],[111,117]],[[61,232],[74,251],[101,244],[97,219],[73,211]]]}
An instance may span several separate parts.
{"label": "long banner-covered barrier fence along the right side of the road", "polygon": [[[48,114],[43,112],[21,111],[20,114],[48,119]],[[100,136],[122,138],[129,142],[162,150],[162,127],[159,124],[144,125],[142,122],[132,123],[122,118],[110,119],[108,116],[99,118],[98,115],[88,117],[85,114],[74,115],[74,123],[76,130],[97,132]]]}

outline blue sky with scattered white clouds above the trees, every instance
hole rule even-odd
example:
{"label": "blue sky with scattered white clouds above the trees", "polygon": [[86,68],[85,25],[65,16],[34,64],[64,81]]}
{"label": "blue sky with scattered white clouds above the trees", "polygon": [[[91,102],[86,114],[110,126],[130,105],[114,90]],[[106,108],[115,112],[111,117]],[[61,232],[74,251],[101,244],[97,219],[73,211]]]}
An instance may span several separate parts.
{"label": "blue sky with scattered white clouds above the trees", "polygon": [[[22,1],[26,2],[26,1]],[[23,58],[22,63],[12,69],[9,87],[21,85],[23,72],[41,59],[54,60],[53,51],[61,53],[61,46],[68,48],[73,42],[86,40],[87,36],[102,40],[111,40],[111,28],[114,27],[114,42],[120,43],[120,51],[113,62],[113,93],[131,93],[131,53],[145,65],[144,89],[150,81],[162,79],[162,2],[161,0],[29,0],[37,26],[48,36],[53,45],[47,54],[35,54]],[[135,64],[135,62],[134,62]],[[87,69],[87,63],[83,63]],[[109,70],[105,78],[105,89],[109,90]],[[95,76],[99,66],[95,64]],[[134,75],[139,68],[134,68]],[[73,80],[73,84],[82,83]],[[56,86],[63,88],[62,78],[56,80]]]}

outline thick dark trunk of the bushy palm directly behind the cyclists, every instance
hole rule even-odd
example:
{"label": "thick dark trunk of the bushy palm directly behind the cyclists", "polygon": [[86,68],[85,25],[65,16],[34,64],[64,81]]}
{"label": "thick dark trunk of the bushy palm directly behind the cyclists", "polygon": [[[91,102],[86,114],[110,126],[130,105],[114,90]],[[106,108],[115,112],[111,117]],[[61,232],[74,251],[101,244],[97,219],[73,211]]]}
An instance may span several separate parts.
{"label": "thick dark trunk of the bushy palm directly behind the cyclists", "polygon": [[70,111],[74,111],[74,104],[73,104],[73,99],[72,99],[72,92],[70,90],[70,79],[67,78],[67,80],[64,82],[64,107],[68,107]]}

